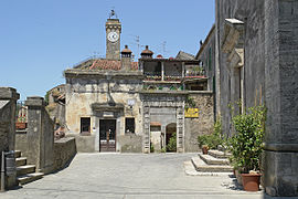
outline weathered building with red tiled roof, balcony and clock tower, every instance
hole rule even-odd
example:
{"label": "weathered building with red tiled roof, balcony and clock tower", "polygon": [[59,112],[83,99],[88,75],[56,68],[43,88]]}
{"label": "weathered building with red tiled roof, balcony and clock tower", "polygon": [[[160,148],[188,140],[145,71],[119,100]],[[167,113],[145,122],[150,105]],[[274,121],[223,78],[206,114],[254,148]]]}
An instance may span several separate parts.
{"label": "weathered building with red tiled roof, balcony and clock tower", "polygon": [[199,61],[155,59],[146,46],[132,62],[127,45],[120,51],[120,33],[119,19],[108,19],[106,59],[65,70],[66,136],[76,137],[78,151],[150,153],[177,135],[177,151],[196,151],[198,135],[214,122]]}

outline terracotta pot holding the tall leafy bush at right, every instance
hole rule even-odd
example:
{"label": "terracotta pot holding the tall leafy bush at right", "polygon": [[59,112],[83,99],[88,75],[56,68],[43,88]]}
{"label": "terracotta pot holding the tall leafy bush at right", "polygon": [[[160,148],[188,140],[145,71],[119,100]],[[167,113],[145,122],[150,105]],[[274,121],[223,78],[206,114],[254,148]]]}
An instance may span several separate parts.
{"label": "terracotta pot holding the tall leafy bush at right", "polygon": [[260,174],[242,174],[243,188],[246,191],[258,191]]}

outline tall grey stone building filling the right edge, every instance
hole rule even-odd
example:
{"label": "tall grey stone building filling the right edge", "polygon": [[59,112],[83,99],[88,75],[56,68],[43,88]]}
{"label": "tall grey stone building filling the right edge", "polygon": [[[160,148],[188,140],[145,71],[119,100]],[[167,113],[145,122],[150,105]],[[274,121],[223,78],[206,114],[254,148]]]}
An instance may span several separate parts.
{"label": "tall grey stone building filling the right edge", "polygon": [[216,0],[216,112],[231,135],[228,103],[266,105],[264,186],[298,196],[297,32],[295,0]]}

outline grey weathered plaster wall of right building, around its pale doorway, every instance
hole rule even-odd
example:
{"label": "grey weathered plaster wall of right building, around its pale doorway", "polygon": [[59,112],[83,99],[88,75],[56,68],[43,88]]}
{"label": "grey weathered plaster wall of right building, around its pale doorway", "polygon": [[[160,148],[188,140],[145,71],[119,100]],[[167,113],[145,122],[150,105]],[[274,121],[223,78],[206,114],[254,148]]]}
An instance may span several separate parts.
{"label": "grey weathered plaster wall of right building, around its pale doorway", "polygon": [[[251,107],[264,102],[265,51],[264,51],[264,1],[259,0],[216,0],[216,33],[220,70],[220,108],[223,130],[232,130],[228,103],[232,96],[231,72],[227,70],[227,54],[221,51],[225,19],[238,19],[244,22],[244,105]],[[233,103],[233,102],[232,102]],[[219,104],[216,105],[219,107]]]}

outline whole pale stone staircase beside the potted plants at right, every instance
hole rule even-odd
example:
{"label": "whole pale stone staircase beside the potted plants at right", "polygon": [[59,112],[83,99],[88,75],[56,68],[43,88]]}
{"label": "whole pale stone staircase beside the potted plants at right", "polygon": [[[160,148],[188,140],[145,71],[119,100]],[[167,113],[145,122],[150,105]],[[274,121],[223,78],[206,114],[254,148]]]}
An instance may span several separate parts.
{"label": "whole pale stone staircase beside the potted plants at right", "polygon": [[190,161],[184,163],[184,169],[188,175],[219,175],[232,172],[228,157],[231,154],[222,150],[209,150],[207,155],[201,153],[192,157]]}

